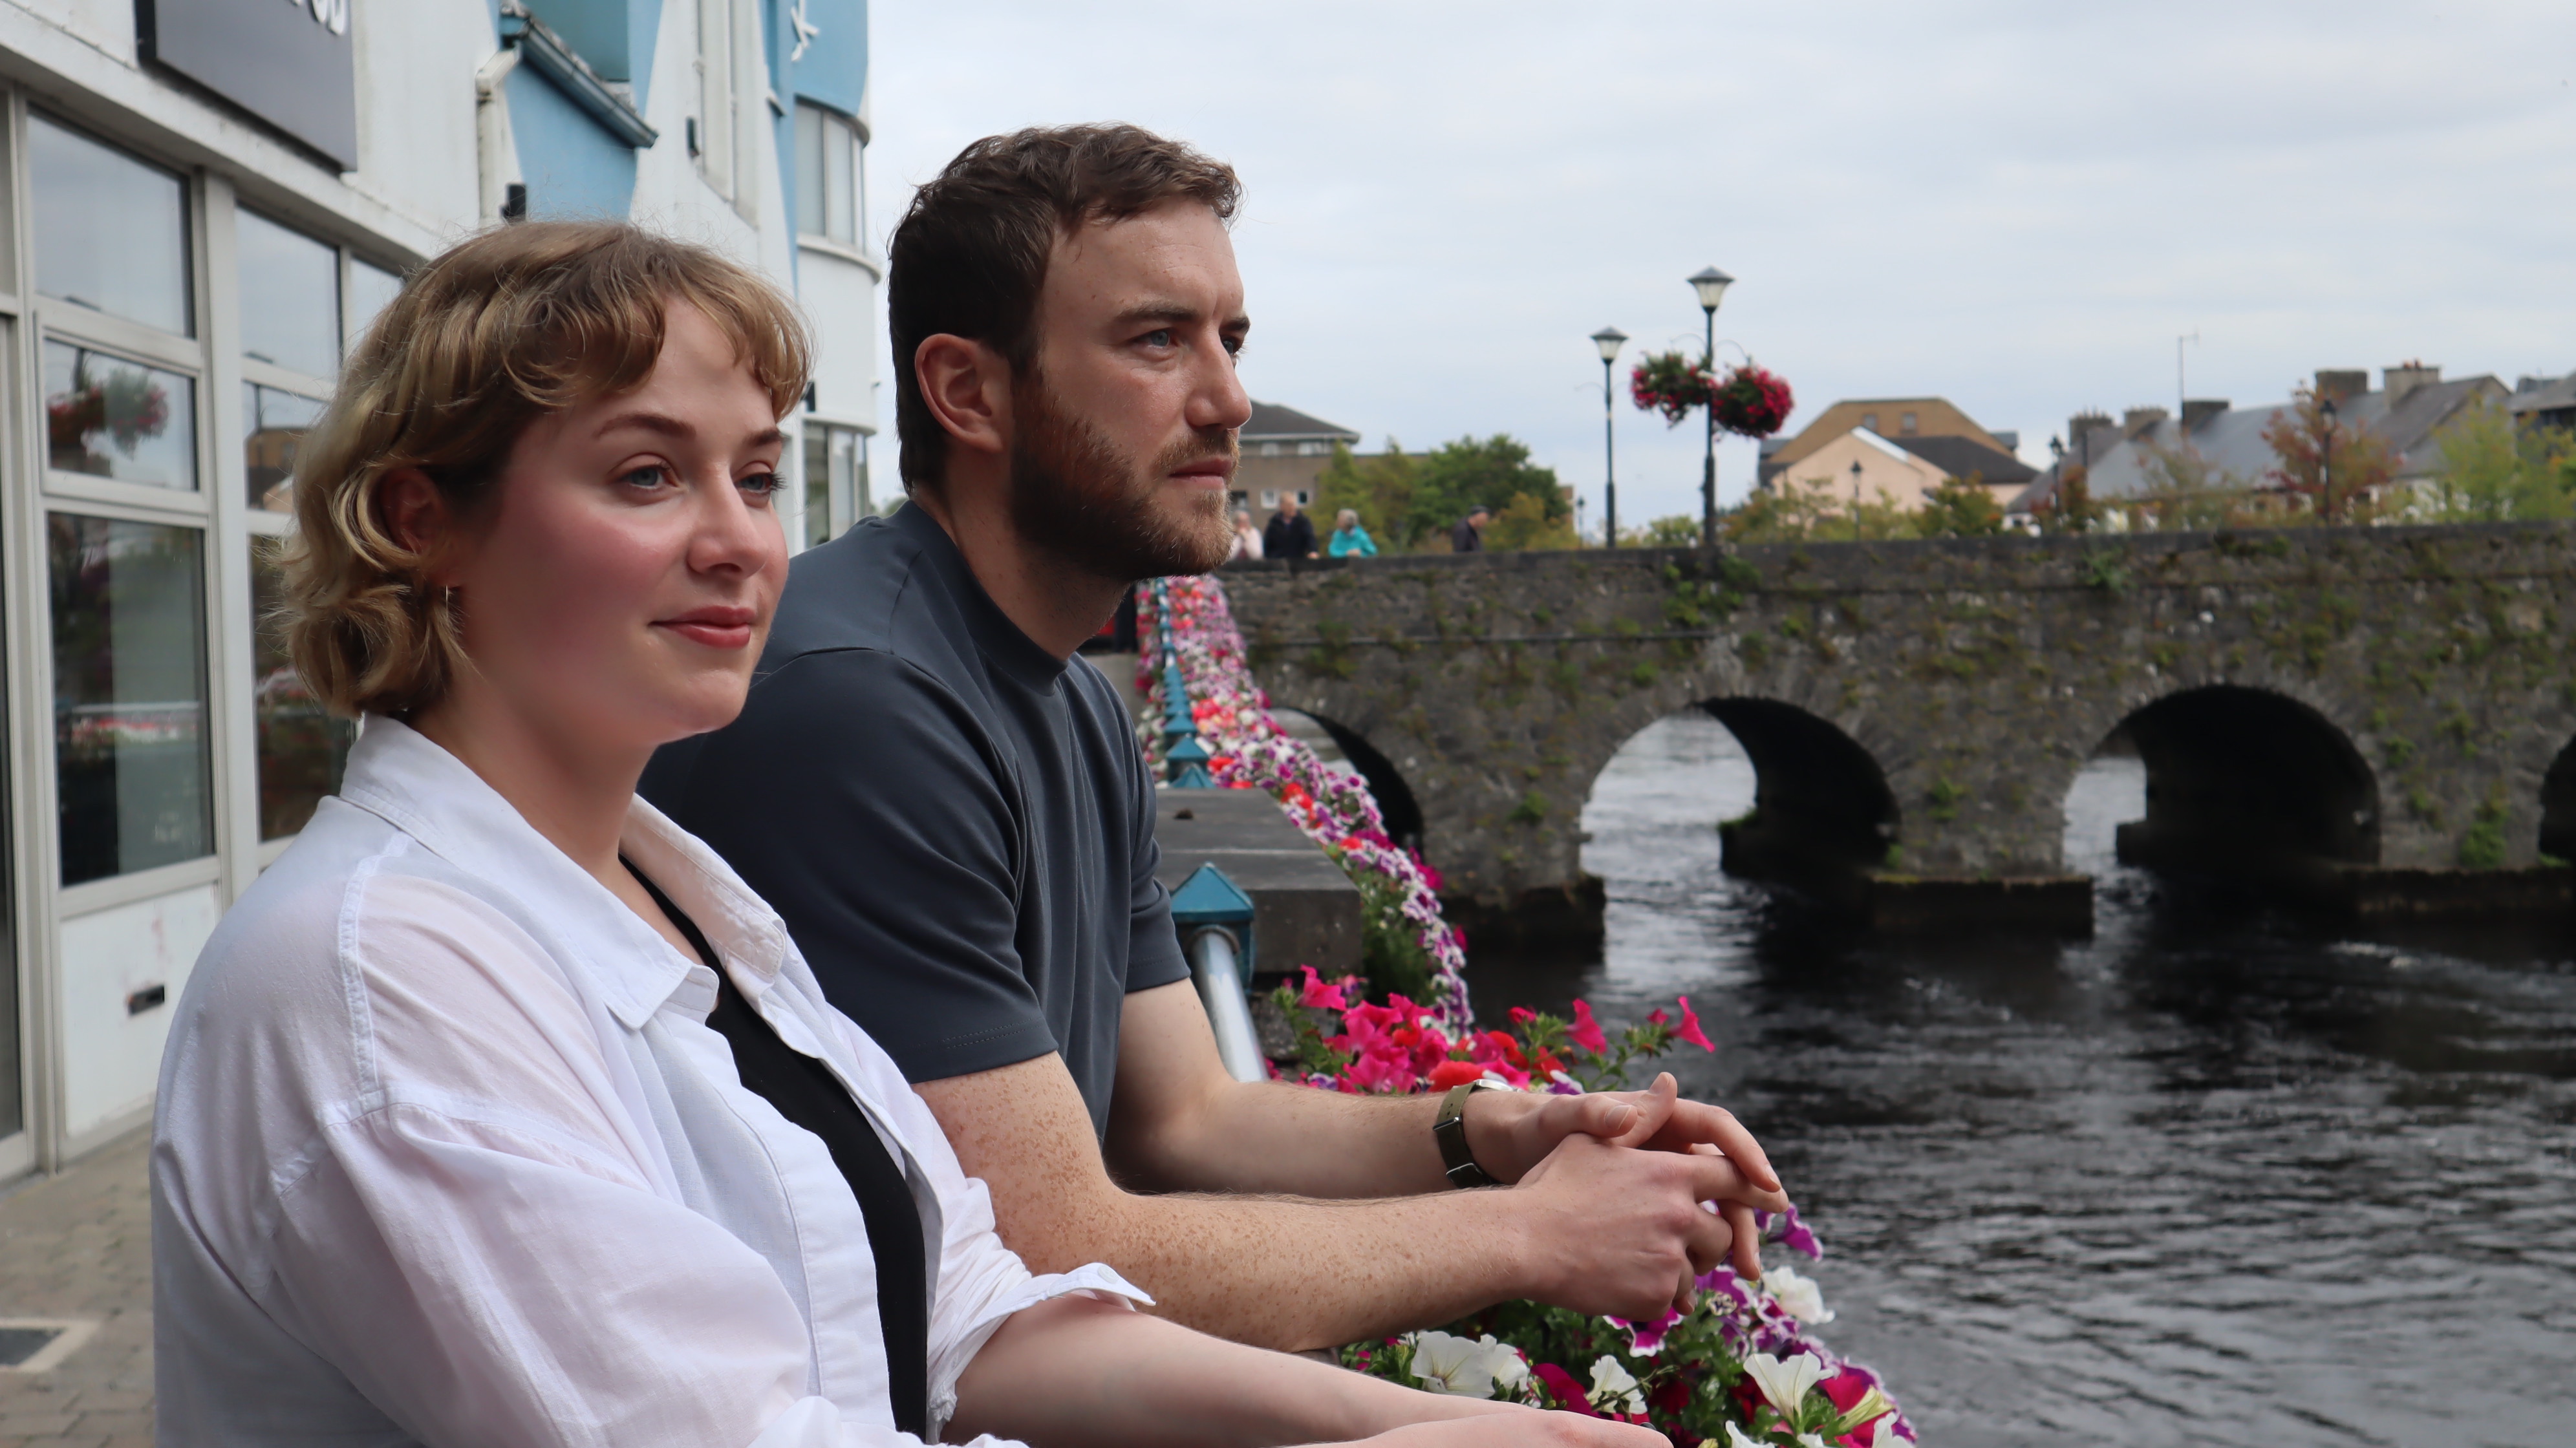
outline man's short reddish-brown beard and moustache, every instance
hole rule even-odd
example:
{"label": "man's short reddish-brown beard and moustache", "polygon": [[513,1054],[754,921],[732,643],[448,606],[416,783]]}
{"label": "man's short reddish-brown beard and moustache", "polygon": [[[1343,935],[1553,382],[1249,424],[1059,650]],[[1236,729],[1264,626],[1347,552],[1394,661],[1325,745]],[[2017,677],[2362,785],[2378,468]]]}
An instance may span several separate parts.
{"label": "man's short reddish-brown beard and moustache", "polygon": [[1234,554],[1224,490],[1190,497],[1175,515],[1157,510],[1175,469],[1234,456],[1231,428],[1208,428],[1154,466],[1136,466],[1087,420],[1059,412],[1036,371],[1012,386],[1012,410],[1023,425],[1010,446],[1010,526],[1023,544],[1118,582],[1211,572]]}

